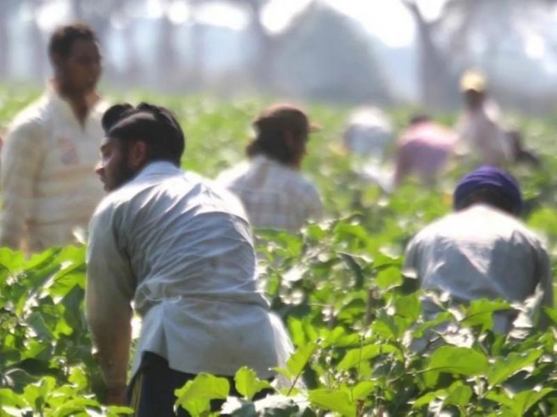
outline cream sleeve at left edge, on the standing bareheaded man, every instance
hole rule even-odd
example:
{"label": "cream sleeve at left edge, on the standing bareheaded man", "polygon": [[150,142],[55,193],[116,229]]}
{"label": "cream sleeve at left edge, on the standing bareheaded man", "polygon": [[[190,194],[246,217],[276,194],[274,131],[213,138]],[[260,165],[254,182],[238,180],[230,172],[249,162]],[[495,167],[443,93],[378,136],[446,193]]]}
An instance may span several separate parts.
{"label": "cream sleeve at left edge, on the standing bareheaded man", "polygon": [[2,149],[0,187],[0,246],[22,249],[33,190],[44,156],[44,136],[37,121],[16,126]]}

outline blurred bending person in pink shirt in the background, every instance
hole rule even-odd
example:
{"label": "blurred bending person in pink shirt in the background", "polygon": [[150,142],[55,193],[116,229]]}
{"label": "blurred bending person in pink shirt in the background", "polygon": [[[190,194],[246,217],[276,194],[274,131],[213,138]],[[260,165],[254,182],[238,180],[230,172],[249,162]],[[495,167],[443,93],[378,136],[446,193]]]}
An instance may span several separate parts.
{"label": "blurred bending person in pink shirt in the background", "polygon": [[427,115],[416,115],[398,139],[396,150],[395,186],[414,175],[431,184],[444,170],[456,144],[455,134]]}

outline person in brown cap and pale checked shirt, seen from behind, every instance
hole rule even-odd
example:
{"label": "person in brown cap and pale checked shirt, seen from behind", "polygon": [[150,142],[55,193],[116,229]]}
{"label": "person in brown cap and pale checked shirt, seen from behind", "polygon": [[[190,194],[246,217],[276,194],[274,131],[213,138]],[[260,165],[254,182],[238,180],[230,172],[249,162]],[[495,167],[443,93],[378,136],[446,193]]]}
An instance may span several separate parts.
{"label": "person in brown cap and pale checked shirt, seen from behind", "polygon": [[317,188],[300,173],[315,126],[299,108],[278,104],[263,111],[253,128],[249,161],[222,172],[217,181],[240,197],[254,227],[295,232],[308,220],[320,219]]}

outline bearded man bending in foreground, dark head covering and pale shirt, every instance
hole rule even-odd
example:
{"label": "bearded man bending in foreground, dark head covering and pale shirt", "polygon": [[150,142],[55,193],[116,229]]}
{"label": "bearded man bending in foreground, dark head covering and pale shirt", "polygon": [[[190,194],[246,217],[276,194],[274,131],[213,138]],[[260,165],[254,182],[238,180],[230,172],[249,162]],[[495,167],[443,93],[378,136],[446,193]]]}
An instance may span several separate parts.
{"label": "bearded man bending in foreground, dark head covering and pale shirt", "polygon": [[[97,165],[105,190],[91,220],[86,316],[108,402],[126,386],[132,306],[143,319],[127,402],[136,416],[170,416],[174,390],[196,374],[260,378],[291,344],[256,290],[256,256],[242,204],[180,170],[175,117],[150,104],[104,114]],[[232,383],[231,386],[234,386]]]}

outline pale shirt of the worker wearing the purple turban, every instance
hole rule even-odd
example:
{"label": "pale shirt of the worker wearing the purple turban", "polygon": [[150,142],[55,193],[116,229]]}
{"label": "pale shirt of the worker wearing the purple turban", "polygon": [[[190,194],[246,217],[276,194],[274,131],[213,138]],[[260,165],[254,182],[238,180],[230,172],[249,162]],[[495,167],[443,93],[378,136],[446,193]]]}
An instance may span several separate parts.
{"label": "pale shirt of the worker wearing the purple turban", "polygon": [[[521,302],[539,284],[542,304],[553,304],[551,264],[540,238],[516,218],[483,204],[420,231],[407,247],[405,270],[416,273],[421,288],[445,291],[455,302]],[[427,312],[430,306],[424,307]]]}

